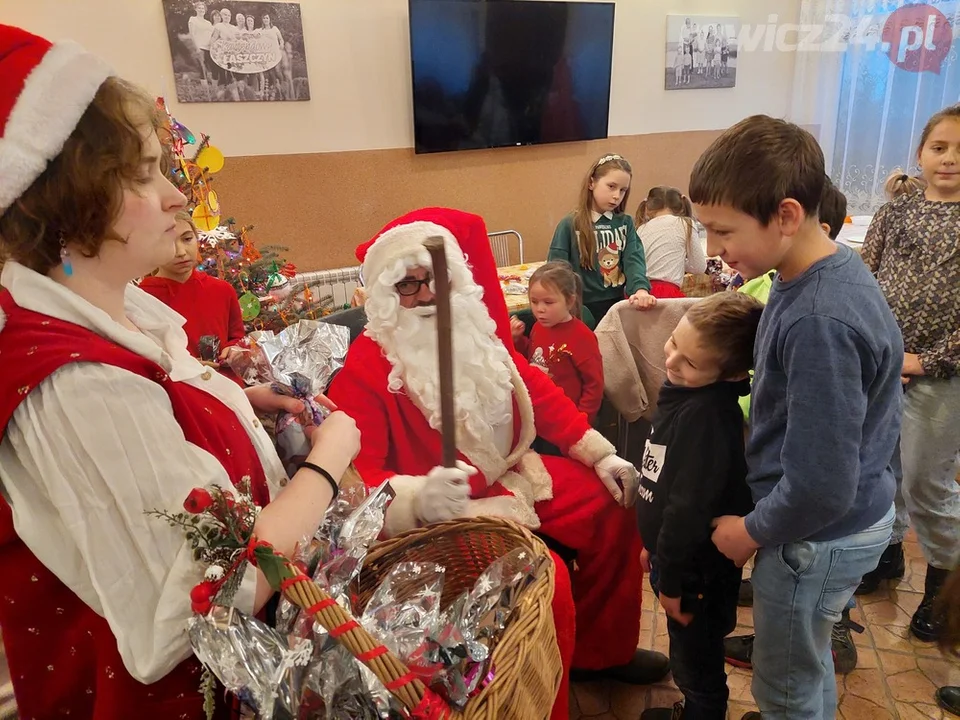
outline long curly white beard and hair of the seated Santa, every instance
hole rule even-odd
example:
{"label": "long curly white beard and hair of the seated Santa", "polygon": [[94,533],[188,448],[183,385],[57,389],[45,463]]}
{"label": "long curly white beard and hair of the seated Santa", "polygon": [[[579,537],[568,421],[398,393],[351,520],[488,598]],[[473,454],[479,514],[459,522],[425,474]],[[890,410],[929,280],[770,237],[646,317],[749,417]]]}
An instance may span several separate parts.
{"label": "long curly white beard and hair of the seated Santa", "polygon": [[[483,304],[483,290],[469,268],[461,258],[450,257],[449,263],[457,426],[483,445],[494,445],[494,427],[513,416],[510,355],[495,335],[496,324]],[[397,260],[369,288],[364,305],[367,334],[383,348],[393,366],[388,389],[405,389],[430,426],[439,430],[436,308],[402,308],[393,287],[407,268],[415,265],[430,267],[429,255]]]}

